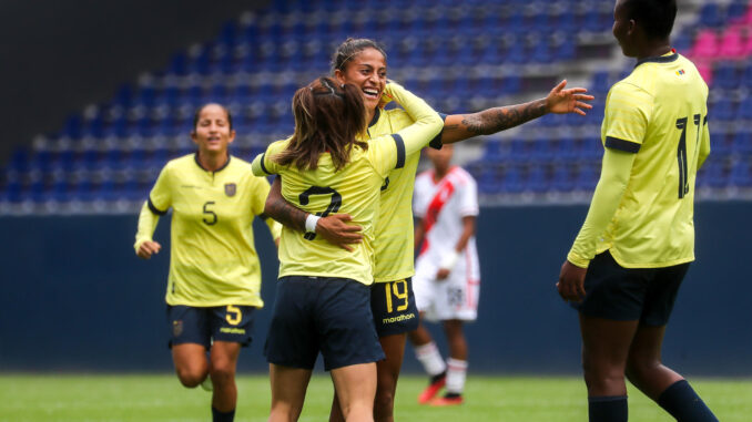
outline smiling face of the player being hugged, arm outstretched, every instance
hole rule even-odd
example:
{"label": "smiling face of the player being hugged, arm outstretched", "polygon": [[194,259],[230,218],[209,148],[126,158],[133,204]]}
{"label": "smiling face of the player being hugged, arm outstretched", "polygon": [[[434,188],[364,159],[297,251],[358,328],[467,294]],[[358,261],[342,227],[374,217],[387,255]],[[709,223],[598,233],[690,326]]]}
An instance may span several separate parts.
{"label": "smiling face of the player being hugged, arm outstretched", "polygon": [[367,48],[337,69],[334,75],[339,83],[352,83],[363,91],[366,110],[373,111],[382,100],[386,86],[386,59],[378,50]]}

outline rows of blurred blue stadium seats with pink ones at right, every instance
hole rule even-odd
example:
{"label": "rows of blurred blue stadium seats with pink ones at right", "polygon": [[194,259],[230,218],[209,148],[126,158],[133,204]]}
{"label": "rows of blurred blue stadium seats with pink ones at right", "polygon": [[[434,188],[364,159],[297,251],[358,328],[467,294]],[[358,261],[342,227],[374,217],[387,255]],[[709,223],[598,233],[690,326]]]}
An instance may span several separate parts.
{"label": "rows of blurred blue stadium seats with pink ones at right", "polygon": [[[730,0],[705,2],[698,12],[692,19],[699,29],[678,31],[673,45],[695,61],[711,86],[711,119],[728,131],[713,134],[711,157],[718,162],[709,162],[702,177],[719,178],[704,182],[710,188],[749,186],[752,10],[746,1]],[[225,22],[201,47],[175,52],[138,86],[123,84],[95,109],[72,113],[44,147],[13,154],[0,173],[0,200],[143,200],[153,179],[141,176],[155,177],[169,158],[193,151],[187,140],[193,112],[209,101],[232,110],[243,142],[235,143],[237,151],[252,157],[265,136],[292,131],[292,95],[312,74],[328,72],[328,55],[349,35],[382,41],[390,78],[397,75],[437,110],[453,113],[540,91],[540,81],[588,54],[582,47],[609,34],[611,24],[612,3],[606,0],[273,2],[243,22]],[[590,81],[593,109],[585,117],[548,115],[530,122],[525,138],[485,142],[482,157],[470,166],[481,194],[595,187],[606,93],[631,68],[619,75],[618,69],[593,72],[579,63],[577,69],[577,78]],[[176,147],[173,138],[185,143]],[[102,182],[79,184],[74,172],[96,174]],[[139,176],[122,182],[113,172]]]}

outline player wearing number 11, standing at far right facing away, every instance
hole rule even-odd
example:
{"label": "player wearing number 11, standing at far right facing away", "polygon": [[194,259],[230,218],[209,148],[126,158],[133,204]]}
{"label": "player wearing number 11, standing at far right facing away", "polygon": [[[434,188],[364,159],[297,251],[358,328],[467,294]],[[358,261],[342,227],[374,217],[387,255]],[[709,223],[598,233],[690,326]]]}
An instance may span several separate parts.
{"label": "player wearing number 11, standing at far right facing away", "polygon": [[613,12],[613,35],[638,61],[609,92],[600,181],[557,284],[579,310],[590,421],[627,421],[624,374],[678,421],[717,421],[661,362],[710,153],[708,85],[670,47],[675,14],[674,0],[618,0]]}

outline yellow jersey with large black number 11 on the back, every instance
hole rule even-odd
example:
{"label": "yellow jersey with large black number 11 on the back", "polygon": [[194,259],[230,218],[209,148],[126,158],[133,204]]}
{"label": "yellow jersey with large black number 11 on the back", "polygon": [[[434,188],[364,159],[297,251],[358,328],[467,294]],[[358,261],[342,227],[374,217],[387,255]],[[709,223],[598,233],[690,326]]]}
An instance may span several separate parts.
{"label": "yellow jersey with large black number 11 on the back", "polygon": [[[638,62],[611,88],[603,145],[637,155],[616,214],[593,239],[593,253],[610,250],[627,268],[694,260],[694,179],[710,154],[707,102],[708,85],[675,52]],[[589,260],[591,251],[578,249],[578,243],[573,258]]]}

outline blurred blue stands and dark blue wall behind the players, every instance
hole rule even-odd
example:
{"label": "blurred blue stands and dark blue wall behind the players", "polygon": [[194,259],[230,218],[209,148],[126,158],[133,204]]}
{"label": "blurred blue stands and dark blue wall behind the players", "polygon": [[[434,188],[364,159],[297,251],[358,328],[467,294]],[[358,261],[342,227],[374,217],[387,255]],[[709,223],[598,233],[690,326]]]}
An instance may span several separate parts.
{"label": "blurred blue stands and dark blue wall behind the players", "polygon": [[[141,261],[132,248],[156,175],[193,151],[206,102],[231,111],[244,159],[291,134],[294,91],[355,37],[379,41],[389,78],[447,114],[538,99],[565,78],[596,95],[586,117],[548,115],[455,155],[482,205],[470,371],[579,373],[576,313],[555,282],[600,173],[606,95],[634,65],[612,12],[611,0],[3,1],[0,371],[171,370],[169,253]],[[680,1],[672,42],[710,85],[712,153],[664,358],[750,375],[752,8]],[[263,371],[277,263],[254,227],[267,307],[241,367]],[[155,239],[169,246],[169,218]],[[418,368],[410,352],[405,364]]]}

